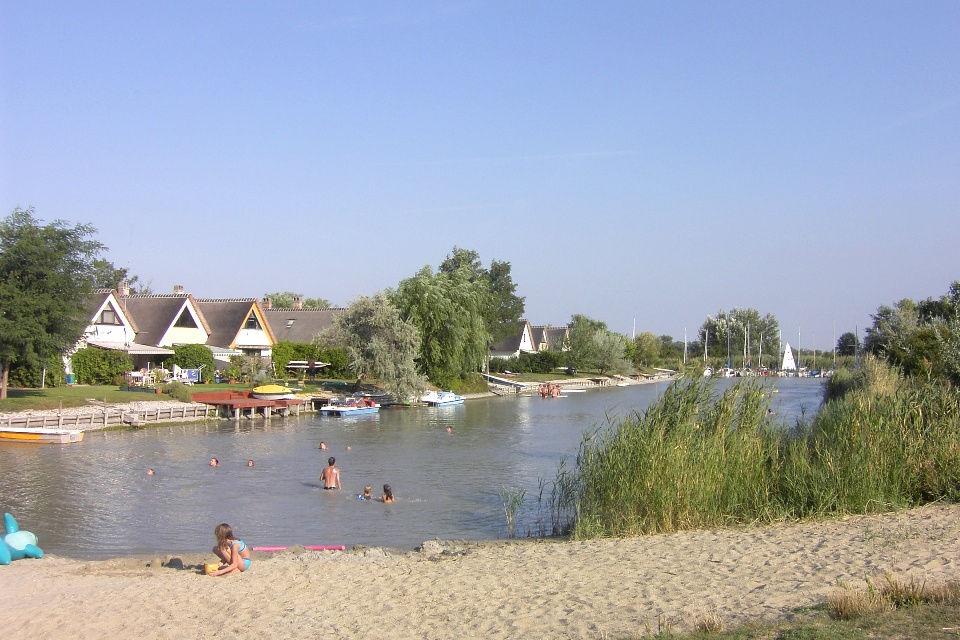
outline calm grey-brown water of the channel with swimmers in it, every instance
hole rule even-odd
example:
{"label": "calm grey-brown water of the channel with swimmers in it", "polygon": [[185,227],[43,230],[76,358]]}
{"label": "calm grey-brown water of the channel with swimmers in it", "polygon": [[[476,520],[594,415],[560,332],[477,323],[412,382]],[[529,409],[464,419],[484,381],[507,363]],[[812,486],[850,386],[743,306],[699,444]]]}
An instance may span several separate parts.
{"label": "calm grey-brown water of the channel with swimmers in it", "polygon": [[[820,381],[775,384],[778,418],[792,424],[816,412]],[[508,487],[527,492],[517,522],[525,535],[536,529],[539,480],[552,480],[564,456],[575,458],[583,433],[607,416],[642,410],[665,388],[92,431],[62,446],[0,444],[0,509],[36,533],[44,551],[74,557],[204,551],[220,522],[254,545],[412,548],[434,538],[505,537],[498,490]],[[318,450],[321,440],[329,451]],[[329,455],[343,491],[320,488]],[[214,456],[221,466],[208,466]],[[146,475],[151,467],[157,475]],[[379,496],[384,483],[395,504],[357,500],[365,484]]]}

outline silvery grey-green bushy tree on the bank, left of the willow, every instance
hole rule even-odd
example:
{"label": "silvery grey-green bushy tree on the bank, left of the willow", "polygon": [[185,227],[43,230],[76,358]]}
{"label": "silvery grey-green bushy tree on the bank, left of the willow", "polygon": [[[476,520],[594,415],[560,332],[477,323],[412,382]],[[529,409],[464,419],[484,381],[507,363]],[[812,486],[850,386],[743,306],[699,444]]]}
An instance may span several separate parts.
{"label": "silvery grey-green bushy tree on the bank, left of the willow", "polygon": [[385,292],[357,298],[334,318],[331,333],[318,340],[341,345],[350,356],[350,368],[359,377],[375,377],[398,400],[423,393],[425,384],[416,365],[419,332],[412,322],[400,317]]}

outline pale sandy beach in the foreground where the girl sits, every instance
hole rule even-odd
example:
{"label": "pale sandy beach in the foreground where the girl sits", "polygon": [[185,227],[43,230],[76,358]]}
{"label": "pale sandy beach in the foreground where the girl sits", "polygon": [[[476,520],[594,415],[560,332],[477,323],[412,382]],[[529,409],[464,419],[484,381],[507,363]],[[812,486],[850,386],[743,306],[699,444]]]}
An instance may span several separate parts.
{"label": "pale sandy beach in the foreground where the girl sits", "polygon": [[293,548],[256,554],[248,572],[222,578],[201,573],[212,554],[48,555],[0,567],[0,629],[5,638],[652,635],[663,622],[689,630],[704,613],[727,628],[789,619],[839,583],[883,572],[956,579],[958,543],[960,506],[933,505],[624,540]]}

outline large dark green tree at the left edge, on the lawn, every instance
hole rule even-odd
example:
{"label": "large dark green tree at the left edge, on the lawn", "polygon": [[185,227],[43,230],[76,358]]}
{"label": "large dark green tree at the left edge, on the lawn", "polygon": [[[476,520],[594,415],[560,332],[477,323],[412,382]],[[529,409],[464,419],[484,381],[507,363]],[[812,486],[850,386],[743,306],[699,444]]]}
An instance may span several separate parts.
{"label": "large dark green tree at the left edge, on the lawn", "polygon": [[35,366],[72,349],[89,318],[93,261],[103,245],[90,225],[41,225],[19,207],[0,223],[0,400],[12,363]]}

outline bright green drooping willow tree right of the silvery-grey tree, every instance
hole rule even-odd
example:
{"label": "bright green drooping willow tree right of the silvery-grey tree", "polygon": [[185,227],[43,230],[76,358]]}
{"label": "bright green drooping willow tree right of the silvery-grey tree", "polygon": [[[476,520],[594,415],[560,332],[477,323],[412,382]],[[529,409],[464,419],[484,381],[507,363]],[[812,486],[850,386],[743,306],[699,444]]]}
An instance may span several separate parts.
{"label": "bright green drooping willow tree right of the silvery-grey tree", "polygon": [[487,282],[470,275],[465,267],[436,274],[423,267],[394,296],[401,317],[420,332],[420,371],[441,387],[478,371],[490,344]]}

